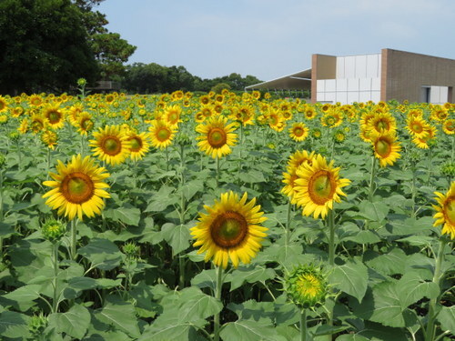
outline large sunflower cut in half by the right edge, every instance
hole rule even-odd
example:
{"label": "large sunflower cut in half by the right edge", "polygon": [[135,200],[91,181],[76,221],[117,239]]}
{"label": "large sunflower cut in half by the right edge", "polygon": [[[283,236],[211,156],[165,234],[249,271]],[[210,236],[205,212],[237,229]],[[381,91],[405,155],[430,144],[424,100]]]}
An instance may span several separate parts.
{"label": "large sunflower cut in half by the right edge", "polygon": [[437,196],[435,200],[438,205],[433,205],[437,211],[433,216],[436,221],[433,226],[442,226],[442,234],[449,235],[450,239],[455,239],[455,182],[450,185],[449,191],[443,195],[440,192],[434,192]]}

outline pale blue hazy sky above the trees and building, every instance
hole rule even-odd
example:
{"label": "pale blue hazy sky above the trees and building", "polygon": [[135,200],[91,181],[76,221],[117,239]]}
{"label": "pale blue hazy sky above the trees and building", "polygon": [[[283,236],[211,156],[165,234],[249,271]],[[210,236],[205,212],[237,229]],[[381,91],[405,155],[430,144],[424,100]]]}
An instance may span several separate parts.
{"label": "pale blue hazy sky above the trees and building", "polygon": [[455,0],[105,0],[127,64],[183,65],[201,78],[261,81],[311,67],[311,55],[382,48],[455,59]]}

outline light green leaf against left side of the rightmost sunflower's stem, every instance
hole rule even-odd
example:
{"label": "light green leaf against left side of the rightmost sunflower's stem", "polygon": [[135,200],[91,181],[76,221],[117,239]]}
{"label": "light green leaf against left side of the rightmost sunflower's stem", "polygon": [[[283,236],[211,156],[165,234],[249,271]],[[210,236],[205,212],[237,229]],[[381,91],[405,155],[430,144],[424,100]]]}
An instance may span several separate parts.
{"label": "light green leaf against left side of the rightmost sunflower's stem", "polygon": [[427,281],[418,272],[407,272],[397,284],[397,291],[402,306],[410,306],[423,297],[436,298],[440,295],[440,287],[433,281]]}

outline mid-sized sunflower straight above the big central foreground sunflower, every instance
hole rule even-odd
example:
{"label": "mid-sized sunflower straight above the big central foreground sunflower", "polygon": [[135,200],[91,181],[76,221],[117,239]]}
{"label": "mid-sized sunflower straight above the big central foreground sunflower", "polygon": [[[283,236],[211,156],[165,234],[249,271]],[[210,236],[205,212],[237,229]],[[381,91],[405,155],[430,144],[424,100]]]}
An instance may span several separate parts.
{"label": "mid-sized sunflower straight above the big central foreground sunflower", "polygon": [[235,145],[237,134],[237,124],[227,124],[224,116],[214,116],[207,120],[207,124],[197,125],[196,131],[201,134],[197,136],[197,146],[207,155],[213,158],[221,157],[231,153],[230,146]]}

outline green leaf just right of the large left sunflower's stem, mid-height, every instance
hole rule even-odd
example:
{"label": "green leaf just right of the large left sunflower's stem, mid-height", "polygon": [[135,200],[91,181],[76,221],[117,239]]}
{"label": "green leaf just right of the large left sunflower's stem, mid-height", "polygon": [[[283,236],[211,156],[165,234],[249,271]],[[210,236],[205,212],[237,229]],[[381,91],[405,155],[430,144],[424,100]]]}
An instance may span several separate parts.
{"label": "green leaf just right of the large left sunflower's stem, mid-height", "polygon": [[101,270],[112,270],[120,265],[123,254],[118,247],[110,240],[94,238],[77,251],[79,255],[85,256],[93,266]]}

